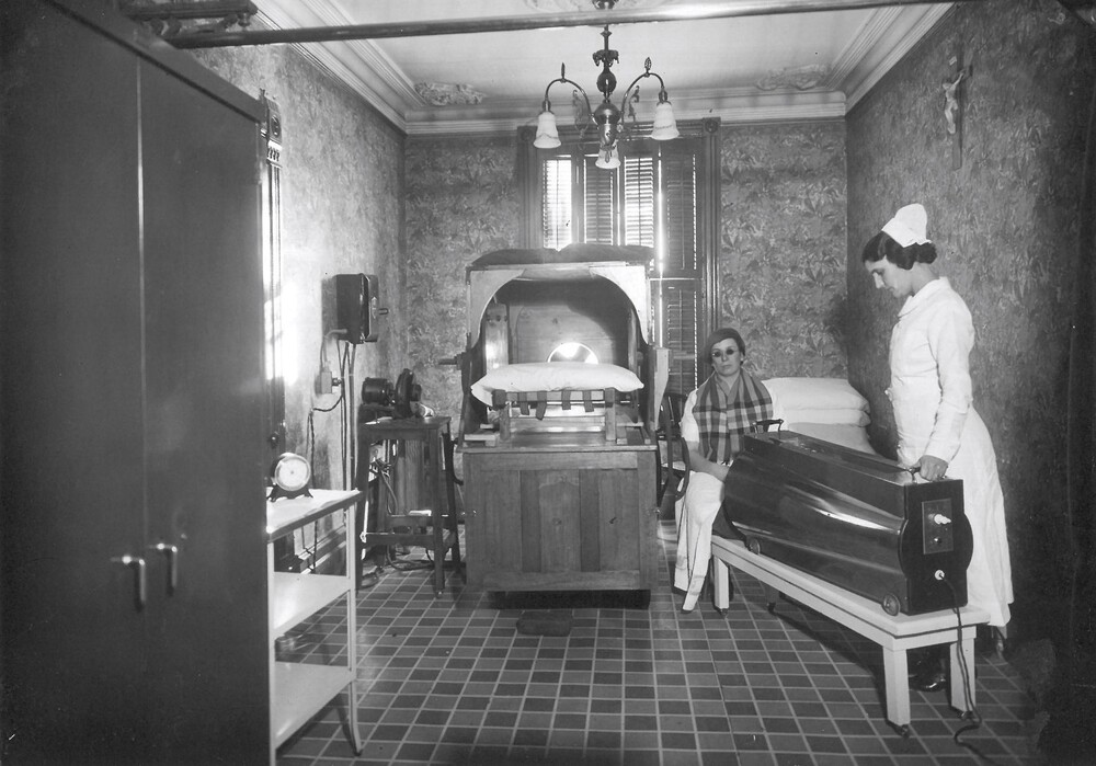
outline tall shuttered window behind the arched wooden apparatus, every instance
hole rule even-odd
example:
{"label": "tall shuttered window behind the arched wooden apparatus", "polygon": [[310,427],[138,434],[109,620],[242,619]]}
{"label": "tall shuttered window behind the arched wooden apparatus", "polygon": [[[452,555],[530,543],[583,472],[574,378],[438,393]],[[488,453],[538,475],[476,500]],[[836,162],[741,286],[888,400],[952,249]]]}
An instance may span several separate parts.
{"label": "tall shuttered window behind the arched wooden apparatus", "polygon": [[[681,126],[681,125],[680,125]],[[538,151],[526,141],[528,247],[572,242],[653,248],[657,345],[671,350],[670,390],[699,382],[697,346],[712,321],[718,242],[718,121],[673,141],[637,140],[614,170],[597,168],[596,147],[578,140]],[[534,180],[535,179],[535,180]]]}

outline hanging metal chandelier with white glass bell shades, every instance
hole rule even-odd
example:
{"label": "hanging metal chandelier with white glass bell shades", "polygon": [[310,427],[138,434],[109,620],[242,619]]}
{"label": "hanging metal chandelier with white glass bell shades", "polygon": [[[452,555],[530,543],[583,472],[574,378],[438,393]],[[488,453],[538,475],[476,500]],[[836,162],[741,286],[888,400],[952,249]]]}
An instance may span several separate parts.
{"label": "hanging metal chandelier with white glass bell shades", "polygon": [[[598,9],[613,8],[615,0],[594,0]],[[559,130],[556,127],[556,115],[551,111],[551,101],[548,100],[548,91],[557,82],[566,82],[574,87],[572,101],[575,106],[574,125],[585,136],[586,130],[595,128],[597,130],[597,167],[617,168],[620,165],[620,152],[618,148],[619,139],[627,138],[627,135],[635,129],[636,110],[635,104],[639,102],[639,82],[649,77],[659,81],[659,103],[654,107],[654,124],[651,128],[651,138],[657,141],[666,141],[677,138],[677,121],[674,118],[674,110],[670,104],[670,94],[666,93],[666,84],[662,78],[651,71],[651,59],[643,62],[643,73],[631,81],[631,84],[624,92],[620,106],[613,103],[613,91],[616,90],[616,76],[613,75],[613,65],[619,60],[620,56],[616,50],[609,48],[608,24],[602,30],[604,47],[594,52],[594,64],[602,67],[601,75],[597,76],[597,90],[602,93],[602,103],[596,108],[591,108],[590,98],[574,80],[567,78],[564,65],[559,67],[559,77],[548,83],[545,88],[545,98],[540,104],[540,114],[537,117],[537,135],[533,140],[533,146],[538,149],[555,149],[560,145]],[[626,118],[631,125],[626,123]]]}

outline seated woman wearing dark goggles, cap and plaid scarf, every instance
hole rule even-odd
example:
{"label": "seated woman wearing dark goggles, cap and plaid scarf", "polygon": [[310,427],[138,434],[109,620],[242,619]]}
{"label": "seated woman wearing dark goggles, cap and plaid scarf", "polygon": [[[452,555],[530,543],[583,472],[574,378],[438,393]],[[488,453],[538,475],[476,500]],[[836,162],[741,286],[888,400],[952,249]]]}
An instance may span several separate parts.
{"label": "seated woman wearing dark goggles, cap and plaid scarf", "polygon": [[727,467],[742,450],[751,426],[773,418],[773,399],[742,368],[746,345],[731,328],[715,330],[701,358],[711,376],[689,393],[682,410],[682,438],[689,450],[689,480],[677,521],[674,586],[685,592],[682,611],[696,608],[711,558],[711,524],[723,502]]}

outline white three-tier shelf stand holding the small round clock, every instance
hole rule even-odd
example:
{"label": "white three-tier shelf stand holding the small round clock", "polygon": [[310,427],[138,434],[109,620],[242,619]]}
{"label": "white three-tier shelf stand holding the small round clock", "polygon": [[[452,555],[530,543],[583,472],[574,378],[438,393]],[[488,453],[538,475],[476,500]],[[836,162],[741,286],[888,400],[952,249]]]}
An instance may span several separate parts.
{"label": "white three-tier shelf stand holding the small round clock", "polygon": [[[364,492],[311,490],[311,498],[266,503],[266,560],[270,594],[271,764],[277,748],[307,723],[324,705],[346,689],[346,720],[355,753],[362,751],[357,731],[354,677],[357,670],[354,604],[354,506]],[[345,529],[345,573],[310,574],[274,571],[274,540],[293,534],[323,516],[342,513]],[[295,625],[326,606],[346,602],[346,664],[312,665],[277,662],[274,641]]]}

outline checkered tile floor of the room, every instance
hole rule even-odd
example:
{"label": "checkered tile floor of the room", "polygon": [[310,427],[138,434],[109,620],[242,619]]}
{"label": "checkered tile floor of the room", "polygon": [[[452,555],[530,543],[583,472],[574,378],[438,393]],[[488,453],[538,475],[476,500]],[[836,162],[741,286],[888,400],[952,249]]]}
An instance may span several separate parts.
{"label": "checkered tile floor of the room", "polygon": [[[741,573],[726,614],[710,599],[681,614],[673,534],[663,522],[662,582],[648,608],[629,594],[576,594],[500,609],[459,576],[435,598],[429,570],[387,570],[358,593],[362,753],[338,700],[278,763],[1042,763],[1025,723],[1031,702],[1005,661],[978,661],[980,728],[957,743],[968,721],[945,693],[913,691],[903,739],[883,718],[881,650],[856,634],[791,603],[770,614],[760,583]],[[517,631],[524,609],[548,608],[571,614],[568,636]],[[343,617],[323,615],[306,633],[338,634]]]}

